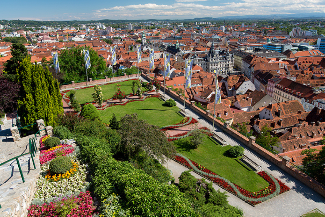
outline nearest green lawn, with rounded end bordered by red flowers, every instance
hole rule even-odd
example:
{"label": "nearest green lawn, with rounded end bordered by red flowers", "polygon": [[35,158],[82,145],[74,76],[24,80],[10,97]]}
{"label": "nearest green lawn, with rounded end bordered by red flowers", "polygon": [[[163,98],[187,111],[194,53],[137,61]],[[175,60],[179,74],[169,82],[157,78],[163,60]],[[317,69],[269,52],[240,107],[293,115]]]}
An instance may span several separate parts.
{"label": "nearest green lawn, with rounded end bordered by red flowers", "polygon": [[240,187],[256,192],[268,186],[268,183],[240,160],[230,158],[224,153],[231,147],[222,147],[208,136],[197,149],[191,149],[189,137],[174,141],[177,152],[215,172]]}

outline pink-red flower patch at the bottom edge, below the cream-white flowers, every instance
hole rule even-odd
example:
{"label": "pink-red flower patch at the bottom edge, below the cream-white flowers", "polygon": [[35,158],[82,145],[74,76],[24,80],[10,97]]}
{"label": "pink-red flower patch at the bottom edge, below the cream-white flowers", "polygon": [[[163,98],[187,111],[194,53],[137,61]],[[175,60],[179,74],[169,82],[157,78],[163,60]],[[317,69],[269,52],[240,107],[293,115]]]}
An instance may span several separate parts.
{"label": "pink-red flower patch at the bottom edge, below the cream-white flowers", "polygon": [[28,209],[28,217],[91,217],[95,208],[90,192],[80,192],[78,196],[55,198],[54,202],[43,205],[32,205]]}

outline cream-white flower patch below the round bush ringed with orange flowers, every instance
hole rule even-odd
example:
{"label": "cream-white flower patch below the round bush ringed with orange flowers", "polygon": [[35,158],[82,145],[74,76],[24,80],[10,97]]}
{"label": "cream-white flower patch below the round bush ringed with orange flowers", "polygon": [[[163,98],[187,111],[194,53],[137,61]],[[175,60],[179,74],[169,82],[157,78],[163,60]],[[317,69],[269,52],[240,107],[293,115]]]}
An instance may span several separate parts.
{"label": "cream-white flower patch below the round bush ringed with orange flowers", "polygon": [[44,164],[41,166],[42,172],[36,182],[37,190],[34,199],[57,197],[60,194],[65,194],[69,191],[80,191],[80,189],[85,188],[85,186],[88,185],[86,182],[86,166],[84,164],[80,165],[76,154],[70,155],[69,158],[77,164],[78,167],[75,168],[77,171],[74,171],[73,176],[69,179],[60,179],[59,182],[47,180],[48,177],[45,178],[45,176],[47,175],[49,165]]}

